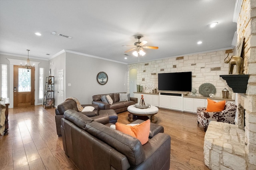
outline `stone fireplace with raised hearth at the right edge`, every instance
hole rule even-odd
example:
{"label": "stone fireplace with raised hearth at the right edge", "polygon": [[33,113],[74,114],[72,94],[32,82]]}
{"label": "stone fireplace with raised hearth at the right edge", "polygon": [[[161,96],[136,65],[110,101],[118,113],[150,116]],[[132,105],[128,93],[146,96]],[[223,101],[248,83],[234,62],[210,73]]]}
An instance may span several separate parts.
{"label": "stone fireplace with raised hearth at the right edge", "polygon": [[256,170],[256,0],[239,3],[237,39],[244,36],[241,57],[248,84],[245,93],[235,93],[235,125],[211,121],[208,126],[204,162],[210,169]]}

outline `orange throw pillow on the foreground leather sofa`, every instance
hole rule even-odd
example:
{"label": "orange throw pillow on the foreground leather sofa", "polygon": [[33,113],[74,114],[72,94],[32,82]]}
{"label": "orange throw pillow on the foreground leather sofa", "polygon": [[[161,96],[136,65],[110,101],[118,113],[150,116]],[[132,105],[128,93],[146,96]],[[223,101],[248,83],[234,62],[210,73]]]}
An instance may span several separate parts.
{"label": "orange throw pillow on the foreground leather sofa", "polygon": [[150,119],[135,126],[124,125],[117,122],[116,130],[137,138],[138,140],[140,140],[140,143],[144,145],[145,143],[148,142],[148,136],[150,131]]}

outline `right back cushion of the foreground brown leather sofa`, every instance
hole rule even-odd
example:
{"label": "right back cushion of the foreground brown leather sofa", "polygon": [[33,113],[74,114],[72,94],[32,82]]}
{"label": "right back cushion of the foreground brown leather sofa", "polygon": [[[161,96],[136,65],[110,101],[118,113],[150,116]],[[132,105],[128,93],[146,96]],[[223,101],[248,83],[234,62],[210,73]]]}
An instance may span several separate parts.
{"label": "right back cushion of the foreground brown leather sofa", "polygon": [[95,121],[87,123],[84,130],[126,155],[131,165],[139,165],[145,160],[143,147],[134,137]]}

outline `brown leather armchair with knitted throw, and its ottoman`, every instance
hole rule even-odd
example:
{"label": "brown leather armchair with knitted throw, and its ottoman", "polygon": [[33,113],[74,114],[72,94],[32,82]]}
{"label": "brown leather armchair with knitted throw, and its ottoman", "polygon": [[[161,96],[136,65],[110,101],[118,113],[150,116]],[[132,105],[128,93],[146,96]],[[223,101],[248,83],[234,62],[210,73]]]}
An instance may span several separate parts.
{"label": "brown leather armchair with knitted throw, and its ottoman", "polygon": [[[108,115],[110,123],[117,122],[118,116],[114,110],[108,109],[108,110],[100,110],[99,111],[98,105],[82,104],[82,107],[86,107],[86,106],[92,106],[95,109],[93,111],[86,111],[86,112],[79,112],[79,113],[82,113],[88,117],[94,117],[94,116],[98,116],[98,115]],[[59,104],[57,109],[55,109],[56,130],[57,130],[57,134],[59,137],[62,136],[61,130],[60,130],[60,126],[61,126],[60,120],[61,120],[61,118],[64,117],[64,112],[68,109],[78,111],[76,102],[74,100],[66,100],[65,102]],[[92,119],[97,119],[97,117],[92,118]]]}

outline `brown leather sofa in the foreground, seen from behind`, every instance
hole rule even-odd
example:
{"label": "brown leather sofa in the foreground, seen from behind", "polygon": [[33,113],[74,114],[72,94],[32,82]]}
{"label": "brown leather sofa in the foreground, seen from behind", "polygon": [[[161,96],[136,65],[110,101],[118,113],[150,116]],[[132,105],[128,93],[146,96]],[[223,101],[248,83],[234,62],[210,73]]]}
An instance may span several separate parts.
{"label": "brown leather sofa in the foreground, seen from behind", "polygon": [[95,121],[67,110],[61,119],[64,151],[80,170],[169,170],[169,135],[157,133],[142,146],[104,118]]}

